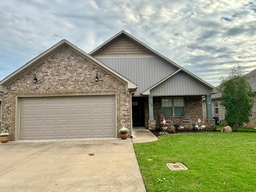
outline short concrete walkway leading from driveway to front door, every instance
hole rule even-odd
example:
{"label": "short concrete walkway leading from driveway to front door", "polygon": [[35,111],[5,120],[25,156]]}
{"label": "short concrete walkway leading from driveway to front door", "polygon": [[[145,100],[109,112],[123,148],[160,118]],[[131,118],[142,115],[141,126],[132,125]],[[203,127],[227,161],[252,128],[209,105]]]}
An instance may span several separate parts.
{"label": "short concrete walkway leading from driveway to front door", "polygon": [[145,127],[133,127],[132,136],[133,143],[144,143],[158,140],[158,138]]}

